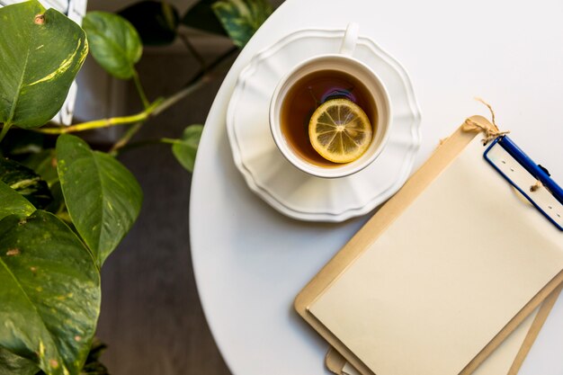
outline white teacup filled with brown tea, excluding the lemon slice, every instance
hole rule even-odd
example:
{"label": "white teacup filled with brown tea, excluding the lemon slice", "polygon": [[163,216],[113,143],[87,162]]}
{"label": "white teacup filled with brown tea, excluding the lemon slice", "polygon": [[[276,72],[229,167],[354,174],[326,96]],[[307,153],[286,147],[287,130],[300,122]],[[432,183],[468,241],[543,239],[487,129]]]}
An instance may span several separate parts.
{"label": "white teacup filled with brown tea, excluding the lemon slice", "polygon": [[[307,174],[325,178],[355,174],[380,155],[389,138],[391,104],[387,89],[370,67],[353,58],[358,29],[356,23],[350,23],[339,53],[303,61],[281,78],[273,92],[269,114],[273,140],[281,154]],[[346,90],[346,85],[351,85],[353,89]],[[316,154],[308,140],[311,112],[315,106],[335,96],[344,96],[363,106],[373,130],[371,143],[362,156],[344,164],[324,160]]]}

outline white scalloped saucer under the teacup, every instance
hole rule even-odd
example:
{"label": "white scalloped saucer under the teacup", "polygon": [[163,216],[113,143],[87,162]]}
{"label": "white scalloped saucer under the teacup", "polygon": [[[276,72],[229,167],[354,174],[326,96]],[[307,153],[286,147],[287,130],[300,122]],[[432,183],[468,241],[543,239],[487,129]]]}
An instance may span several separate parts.
{"label": "white scalloped saucer under the teacup", "polygon": [[362,171],[335,179],[301,172],[281,155],[268,121],[276,85],[299,62],[337,53],[343,38],[344,30],[287,35],[252,58],[228,104],[228,140],[238,170],[253,192],[293,219],[339,222],[370,212],[407,181],[420,145],[420,111],[407,71],[361,36],[353,58],[380,76],[393,106],[387,146]]}

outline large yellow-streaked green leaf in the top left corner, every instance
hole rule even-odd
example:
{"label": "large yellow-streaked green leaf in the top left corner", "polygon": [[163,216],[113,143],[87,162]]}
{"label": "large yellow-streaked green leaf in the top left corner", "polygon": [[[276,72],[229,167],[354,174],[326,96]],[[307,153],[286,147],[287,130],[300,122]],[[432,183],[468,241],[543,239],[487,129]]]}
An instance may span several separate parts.
{"label": "large yellow-streaked green leaf in the top left corner", "polygon": [[85,32],[66,15],[36,0],[1,8],[0,123],[31,129],[51,120],[87,53]]}

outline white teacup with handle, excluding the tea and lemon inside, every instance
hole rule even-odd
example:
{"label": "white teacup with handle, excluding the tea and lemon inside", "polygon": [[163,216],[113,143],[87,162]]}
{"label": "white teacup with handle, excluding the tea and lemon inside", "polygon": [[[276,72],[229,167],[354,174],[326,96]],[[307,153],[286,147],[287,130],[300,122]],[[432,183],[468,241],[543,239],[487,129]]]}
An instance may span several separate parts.
{"label": "white teacup with handle, excluding the tea and lemon inside", "polygon": [[[355,174],[370,165],[380,155],[389,138],[391,119],[389,94],[379,76],[370,67],[352,57],[357,40],[358,25],[350,23],[344,34],[340,53],[320,55],[303,61],[297,67],[291,69],[290,73],[281,78],[280,83],[273,92],[270,103],[270,129],[272,130],[273,140],[280,149],[281,154],[292,165],[307,174],[326,178]],[[371,138],[371,144],[362,156],[350,163],[330,166],[312,164],[307,159],[299,156],[299,153],[290,146],[281,130],[281,104],[290,92],[290,88],[300,78],[321,70],[340,71],[355,77],[365,85],[376,106],[377,121],[375,124],[371,124],[373,129],[375,129]]]}

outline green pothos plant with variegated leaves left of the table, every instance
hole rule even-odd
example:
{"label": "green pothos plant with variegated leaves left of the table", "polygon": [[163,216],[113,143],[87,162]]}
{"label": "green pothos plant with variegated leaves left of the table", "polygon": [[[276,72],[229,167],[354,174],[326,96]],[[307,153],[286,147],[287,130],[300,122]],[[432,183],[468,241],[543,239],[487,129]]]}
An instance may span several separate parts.
{"label": "green pothos plant with variegated leaves left of the table", "polygon": [[[148,119],[209,81],[271,12],[266,0],[201,0],[180,17],[164,1],[144,1],[121,14],[88,13],[83,29],[37,0],[0,9],[0,375],[107,373],[97,361],[103,345],[94,341],[100,270],[143,199],[116,156],[135,146],[131,138]],[[228,35],[236,47],[208,64],[183,25]],[[201,74],[150,100],[135,69],[143,43],[176,38],[199,59]],[[67,127],[49,123],[89,51],[109,74],[134,82],[143,111]],[[112,126],[128,129],[107,152],[74,135]],[[155,141],[171,144],[191,172],[201,128]]]}

